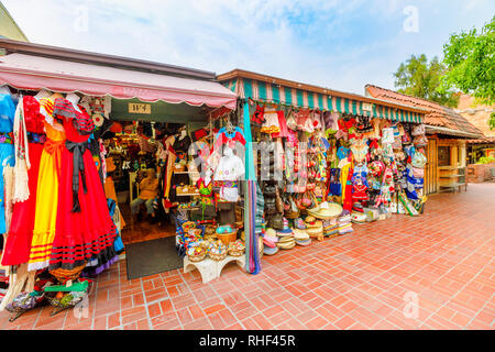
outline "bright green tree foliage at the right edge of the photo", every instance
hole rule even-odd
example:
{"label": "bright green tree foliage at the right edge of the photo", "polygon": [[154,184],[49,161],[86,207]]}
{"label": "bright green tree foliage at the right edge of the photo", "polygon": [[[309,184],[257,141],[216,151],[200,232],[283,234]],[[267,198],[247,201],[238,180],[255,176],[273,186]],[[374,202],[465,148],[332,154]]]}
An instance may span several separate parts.
{"label": "bright green tree foliage at the right edge of the photo", "polygon": [[443,56],[441,90],[458,88],[487,105],[495,102],[495,16],[481,31],[452,34]]}

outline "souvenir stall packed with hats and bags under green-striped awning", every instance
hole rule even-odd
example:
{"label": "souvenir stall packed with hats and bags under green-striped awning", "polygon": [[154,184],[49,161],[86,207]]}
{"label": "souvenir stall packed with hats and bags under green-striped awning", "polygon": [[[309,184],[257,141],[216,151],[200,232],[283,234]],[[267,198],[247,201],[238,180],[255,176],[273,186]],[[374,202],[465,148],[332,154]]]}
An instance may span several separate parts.
{"label": "souvenir stall packed with hats and bags under green-striped awning", "polygon": [[264,254],[422,212],[420,109],[241,70],[219,80],[249,107]]}

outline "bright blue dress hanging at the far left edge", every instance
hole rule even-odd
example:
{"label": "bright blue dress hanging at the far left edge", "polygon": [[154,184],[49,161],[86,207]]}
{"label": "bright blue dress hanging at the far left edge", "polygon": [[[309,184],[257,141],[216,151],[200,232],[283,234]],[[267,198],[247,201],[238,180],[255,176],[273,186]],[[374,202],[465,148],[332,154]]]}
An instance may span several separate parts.
{"label": "bright blue dress hanging at the far left edge", "polygon": [[0,95],[0,233],[6,233],[6,199],[3,193],[3,168],[14,165],[12,141],[15,105],[10,95]]}

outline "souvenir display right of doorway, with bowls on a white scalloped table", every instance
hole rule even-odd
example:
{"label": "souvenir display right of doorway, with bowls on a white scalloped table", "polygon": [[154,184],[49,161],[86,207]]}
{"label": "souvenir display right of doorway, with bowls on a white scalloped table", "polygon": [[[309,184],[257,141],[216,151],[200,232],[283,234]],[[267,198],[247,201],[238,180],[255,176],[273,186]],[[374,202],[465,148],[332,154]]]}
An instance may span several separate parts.
{"label": "souvenir display right of doorway, with bowls on a white scalloped table", "polygon": [[263,204],[256,205],[250,123],[240,101],[235,111],[211,117],[210,139],[190,150],[200,168],[196,189],[201,210],[194,219],[179,207],[177,245],[186,271],[199,270],[204,283],[220,276],[229,262],[249,273],[260,271]]}

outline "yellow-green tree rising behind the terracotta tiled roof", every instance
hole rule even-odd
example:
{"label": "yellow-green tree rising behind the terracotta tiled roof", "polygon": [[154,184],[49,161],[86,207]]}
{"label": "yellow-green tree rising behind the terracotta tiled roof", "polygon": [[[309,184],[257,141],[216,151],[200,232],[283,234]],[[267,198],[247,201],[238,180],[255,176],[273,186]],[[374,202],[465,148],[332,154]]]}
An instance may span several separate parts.
{"label": "yellow-green tree rising behind the terracotta tiled roof", "polygon": [[438,90],[444,73],[446,67],[437,56],[428,62],[425,54],[411,55],[400,64],[394,74],[395,87],[402,94],[432,100],[443,106],[457,107],[459,96],[453,90]]}

